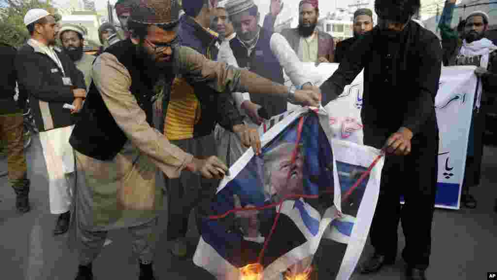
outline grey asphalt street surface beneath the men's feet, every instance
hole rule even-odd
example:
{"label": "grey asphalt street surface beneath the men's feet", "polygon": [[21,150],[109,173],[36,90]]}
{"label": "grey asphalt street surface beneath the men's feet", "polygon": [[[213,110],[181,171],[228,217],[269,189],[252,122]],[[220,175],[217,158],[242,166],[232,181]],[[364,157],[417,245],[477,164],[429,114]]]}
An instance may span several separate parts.
{"label": "grey asphalt street surface beneath the men's feet", "polygon": [[[52,230],[56,217],[48,209],[48,182],[46,167],[38,138],[27,152],[29,177],[31,178],[31,212],[19,215],[14,209],[14,193],[8,186],[7,178],[1,177],[0,184],[0,279],[5,280],[74,280],[77,261],[74,253],[66,245],[66,236],[54,237]],[[479,280],[486,279],[487,272],[497,272],[497,214],[493,212],[497,198],[497,148],[486,147],[482,174],[482,185],[473,194],[479,202],[475,210],[437,210],[433,224],[433,245],[429,279]],[[0,170],[6,170],[6,160],[0,162]],[[165,208],[166,209],[166,205]],[[156,272],[161,280],[211,280],[203,269],[196,267],[191,260],[171,257],[167,250],[166,210],[163,210],[155,258]],[[193,225],[194,223],[191,223]],[[194,228],[190,231],[192,243],[197,236]],[[399,231],[402,230],[399,228]],[[162,237],[162,238],[161,238]],[[109,234],[113,241],[106,246],[93,265],[96,280],[137,280],[138,265],[132,255],[130,237],[126,230]],[[400,235],[400,249],[404,238]],[[195,244],[193,244],[195,246]],[[323,242],[319,254],[330,249],[329,242]],[[366,246],[363,258],[371,252]],[[399,254],[400,256],[400,254]],[[327,263],[336,266],[337,262],[320,258],[320,279],[332,277],[326,274]],[[399,280],[404,265],[397,265],[375,276],[354,275],[354,280]]]}

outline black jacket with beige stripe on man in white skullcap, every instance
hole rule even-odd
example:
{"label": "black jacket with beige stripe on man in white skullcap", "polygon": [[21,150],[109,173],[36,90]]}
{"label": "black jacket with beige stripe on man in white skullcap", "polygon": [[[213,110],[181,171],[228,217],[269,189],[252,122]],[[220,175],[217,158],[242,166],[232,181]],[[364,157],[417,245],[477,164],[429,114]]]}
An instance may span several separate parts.
{"label": "black jacket with beige stripe on man in white skullcap", "polygon": [[28,41],[17,53],[15,68],[19,84],[19,98],[30,98],[30,106],[40,131],[48,131],[74,125],[76,116],[64,104],[74,101],[73,89],[86,90],[83,73],[74,62],[55,49],[64,68],[66,78],[73,85],[64,84],[64,73],[57,63]]}

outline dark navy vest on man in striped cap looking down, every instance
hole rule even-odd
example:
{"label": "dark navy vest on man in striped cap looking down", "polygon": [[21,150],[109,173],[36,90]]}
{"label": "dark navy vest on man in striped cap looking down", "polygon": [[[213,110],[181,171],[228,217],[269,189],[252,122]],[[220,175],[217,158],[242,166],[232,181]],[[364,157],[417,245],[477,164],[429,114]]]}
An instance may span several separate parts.
{"label": "dark navy vest on man in striped cap looking down", "polygon": [[[284,84],[283,69],[271,51],[269,42],[272,32],[260,28],[259,40],[250,56],[247,48],[237,38],[230,41],[230,47],[237,59],[238,66],[247,68],[255,74],[269,79],[275,83]],[[286,111],[287,100],[281,97],[266,95],[250,95],[250,100],[267,110],[269,117],[282,114]]]}

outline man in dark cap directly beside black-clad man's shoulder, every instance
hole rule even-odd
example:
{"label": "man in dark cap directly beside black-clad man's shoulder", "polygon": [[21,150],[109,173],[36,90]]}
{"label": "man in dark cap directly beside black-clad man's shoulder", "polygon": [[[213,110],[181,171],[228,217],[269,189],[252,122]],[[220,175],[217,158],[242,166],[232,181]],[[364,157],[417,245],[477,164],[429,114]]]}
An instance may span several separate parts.
{"label": "man in dark cap directly beside black-clad man's shoulder", "polygon": [[[340,63],[343,56],[347,55],[350,46],[362,38],[366,32],[373,29],[373,11],[368,8],[358,9],[354,12],[354,36],[336,43],[335,61]],[[353,54],[352,54],[353,55]]]}

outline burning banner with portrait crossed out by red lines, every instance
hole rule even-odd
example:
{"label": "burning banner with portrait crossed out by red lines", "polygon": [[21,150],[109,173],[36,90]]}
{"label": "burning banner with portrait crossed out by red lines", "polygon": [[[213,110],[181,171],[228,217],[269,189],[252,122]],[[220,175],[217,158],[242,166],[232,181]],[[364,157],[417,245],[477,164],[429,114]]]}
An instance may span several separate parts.
{"label": "burning banner with portrait crossed out by red lines", "polygon": [[323,108],[297,108],[275,122],[261,154],[248,149],[220,183],[194,263],[220,280],[307,279],[325,237],[345,247],[326,258],[340,264],[337,279],[348,279],[367,239],[383,158],[331,138]]}

